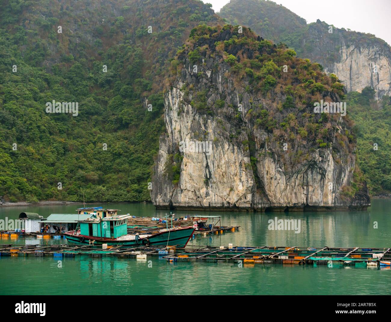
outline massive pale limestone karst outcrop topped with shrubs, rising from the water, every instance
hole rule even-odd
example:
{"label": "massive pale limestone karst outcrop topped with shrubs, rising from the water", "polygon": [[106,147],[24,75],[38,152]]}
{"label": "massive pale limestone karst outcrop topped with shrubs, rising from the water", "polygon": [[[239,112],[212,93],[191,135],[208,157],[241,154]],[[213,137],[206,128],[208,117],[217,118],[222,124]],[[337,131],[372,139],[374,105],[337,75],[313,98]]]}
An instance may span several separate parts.
{"label": "massive pale limestone karst outcrop topped with shrubs, rising from the water", "polygon": [[[308,104],[315,98],[339,101],[337,93],[328,91],[328,77],[312,70],[316,64],[255,39],[248,30],[244,36],[233,27],[210,29],[195,33],[179,54],[177,76],[165,94],[167,131],[154,167],[154,205],[262,211],[366,208],[366,184],[353,183],[355,141],[349,122],[340,114],[314,114]],[[276,65],[271,70],[271,57],[287,64],[289,72],[281,73]],[[317,75],[315,81],[322,79],[324,87],[292,102],[287,93],[300,89],[302,67]]]}

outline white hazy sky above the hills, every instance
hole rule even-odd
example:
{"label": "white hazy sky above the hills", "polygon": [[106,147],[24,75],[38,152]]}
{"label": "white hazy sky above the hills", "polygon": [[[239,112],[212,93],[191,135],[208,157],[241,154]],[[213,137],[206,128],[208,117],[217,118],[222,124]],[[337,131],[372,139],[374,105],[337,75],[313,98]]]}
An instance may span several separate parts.
{"label": "white hazy sky above the hills", "polygon": [[[230,0],[203,0],[215,12]],[[368,32],[391,45],[391,0],[274,0],[307,23],[317,19],[337,28]],[[246,0],[242,0],[243,6]]]}

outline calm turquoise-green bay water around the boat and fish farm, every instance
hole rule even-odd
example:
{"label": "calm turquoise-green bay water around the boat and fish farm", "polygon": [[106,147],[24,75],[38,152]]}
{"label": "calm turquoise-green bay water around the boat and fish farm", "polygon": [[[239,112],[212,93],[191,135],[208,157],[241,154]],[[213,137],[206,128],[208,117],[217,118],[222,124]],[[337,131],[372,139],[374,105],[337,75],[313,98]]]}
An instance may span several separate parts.
{"label": "calm turquoise-green bay water around the boat and fish farm", "polygon": [[[0,208],[0,219],[21,211],[74,213],[82,205]],[[136,216],[163,216],[151,204],[102,204]],[[368,211],[320,213],[202,212],[221,215],[224,225],[240,225],[235,233],[196,236],[190,245],[391,247],[391,200],[373,199]],[[176,211],[194,215],[196,211]],[[301,221],[300,233],[268,229],[268,220]],[[374,228],[377,222],[377,229]],[[0,243],[11,243],[1,239]],[[64,240],[18,238],[12,243],[66,243]],[[151,262],[149,262],[151,260]],[[238,267],[233,263],[167,263],[158,258],[58,259],[0,257],[0,294],[391,294],[391,270],[328,268],[279,264]]]}

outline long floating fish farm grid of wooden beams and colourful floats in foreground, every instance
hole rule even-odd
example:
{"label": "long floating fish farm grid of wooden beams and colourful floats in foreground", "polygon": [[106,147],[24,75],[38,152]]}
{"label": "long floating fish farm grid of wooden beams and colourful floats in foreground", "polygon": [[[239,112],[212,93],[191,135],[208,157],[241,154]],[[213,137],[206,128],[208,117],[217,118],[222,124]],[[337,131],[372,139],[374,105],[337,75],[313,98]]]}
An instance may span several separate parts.
{"label": "long floating fish farm grid of wooden beams and colourful floats in foreground", "polygon": [[243,265],[283,264],[283,265],[352,265],[355,267],[391,268],[391,248],[333,248],[333,247],[210,247],[174,245],[162,247],[134,247],[123,249],[108,247],[102,249],[90,245],[1,245],[0,256],[32,257],[75,257],[88,255],[93,258],[114,256],[145,260],[147,256],[158,256],[169,263],[206,261],[233,262]]}

